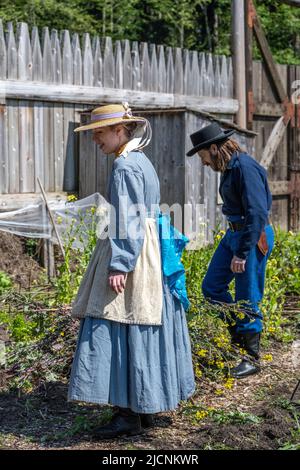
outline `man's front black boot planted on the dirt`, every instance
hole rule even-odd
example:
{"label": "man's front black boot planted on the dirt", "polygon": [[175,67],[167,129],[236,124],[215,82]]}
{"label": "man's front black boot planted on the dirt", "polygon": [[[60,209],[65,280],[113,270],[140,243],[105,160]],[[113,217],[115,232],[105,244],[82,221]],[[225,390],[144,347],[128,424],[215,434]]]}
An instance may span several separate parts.
{"label": "man's front black boot planted on the dirt", "polygon": [[249,358],[244,358],[241,363],[230,370],[231,377],[242,379],[260,372],[259,366],[259,341],[260,333],[243,333],[243,347]]}

